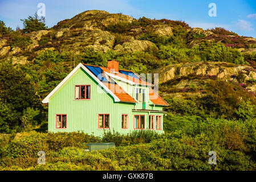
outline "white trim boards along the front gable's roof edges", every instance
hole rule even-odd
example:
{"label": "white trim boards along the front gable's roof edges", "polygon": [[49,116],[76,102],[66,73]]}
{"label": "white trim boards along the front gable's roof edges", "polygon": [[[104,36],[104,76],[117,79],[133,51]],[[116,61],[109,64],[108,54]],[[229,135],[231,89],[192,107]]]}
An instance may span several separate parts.
{"label": "white trim boards along the front gable's roof edges", "polygon": [[82,63],[79,63],[60,83],[57,85],[42,101],[44,104],[49,102],[49,98],[62,86],[79,68],[83,68],[92,78],[94,78],[97,83],[102,86],[111,96],[114,98],[115,102],[120,102],[120,99],[107,88],[93,73],[91,73]]}

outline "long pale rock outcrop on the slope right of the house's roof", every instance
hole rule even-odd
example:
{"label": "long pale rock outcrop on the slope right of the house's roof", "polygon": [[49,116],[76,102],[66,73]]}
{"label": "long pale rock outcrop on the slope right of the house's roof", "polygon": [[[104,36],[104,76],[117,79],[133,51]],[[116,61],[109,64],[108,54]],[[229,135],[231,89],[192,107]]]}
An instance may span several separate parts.
{"label": "long pale rock outcrop on the slope right of the house's roof", "polygon": [[165,88],[162,92],[173,97],[202,96],[202,85],[212,79],[236,82],[250,92],[256,91],[256,69],[248,65],[187,63],[158,68],[153,73],[159,73],[159,83]]}

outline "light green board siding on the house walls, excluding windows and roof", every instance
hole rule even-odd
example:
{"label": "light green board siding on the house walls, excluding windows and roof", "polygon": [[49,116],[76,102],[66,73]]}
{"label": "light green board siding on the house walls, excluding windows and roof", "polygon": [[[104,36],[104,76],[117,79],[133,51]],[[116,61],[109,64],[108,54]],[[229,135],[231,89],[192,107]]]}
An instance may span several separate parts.
{"label": "light green board siding on the house walls, excluding windows and roof", "polygon": [[[91,85],[91,100],[75,100],[75,85]],[[147,94],[148,97],[148,94]],[[148,100],[148,98],[147,98]],[[76,73],[50,97],[48,105],[48,131],[83,131],[84,133],[100,136],[103,129],[98,129],[98,114],[110,115],[110,129],[125,134],[133,131],[133,114],[146,115],[146,128],[148,128],[148,112],[133,112],[142,109],[142,105],[115,102],[112,96],[104,91],[97,82],[83,69]],[[140,107],[140,108],[139,108]],[[146,105],[152,109],[152,105]],[[155,110],[162,110],[162,106],[155,106]],[[67,114],[67,129],[56,129],[56,114]],[[128,114],[128,129],[121,129],[121,114]],[[154,114],[154,113],[151,113]],[[155,113],[163,115],[162,113]],[[106,130],[106,129],[105,129]],[[162,130],[157,130],[162,133]]]}

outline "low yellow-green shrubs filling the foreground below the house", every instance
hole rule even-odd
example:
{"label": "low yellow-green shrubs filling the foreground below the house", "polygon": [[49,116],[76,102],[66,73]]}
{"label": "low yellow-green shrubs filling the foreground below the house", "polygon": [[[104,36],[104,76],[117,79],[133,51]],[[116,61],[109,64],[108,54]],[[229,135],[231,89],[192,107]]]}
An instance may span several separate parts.
{"label": "low yellow-green shrubs filling the foreground below the house", "polygon": [[[134,131],[106,133],[102,138],[83,133],[30,133],[0,139],[0,169],[7,170],[252,170],[255,169],[255,119],[165,117],[165,134]],[[84,144],[115,142],[116,148],[83,152]],[[46,164],[37,153],[46,152]],[[216,151],[217,165],[208,163]]]}

